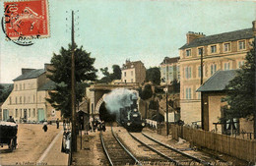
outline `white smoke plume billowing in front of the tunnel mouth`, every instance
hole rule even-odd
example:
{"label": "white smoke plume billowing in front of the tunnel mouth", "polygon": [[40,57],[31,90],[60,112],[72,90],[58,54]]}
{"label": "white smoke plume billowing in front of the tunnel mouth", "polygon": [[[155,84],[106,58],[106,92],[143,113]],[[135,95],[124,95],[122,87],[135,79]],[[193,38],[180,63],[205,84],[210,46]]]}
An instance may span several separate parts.
{"label": "white smoke plume billowing in front of the tunnel mouth", "polygon": [[126,88],[116,88],[104,96],[105,107],[111,114],[118,114],[120,108],[130,106],[132,98],[138,98],[138,92]]}

